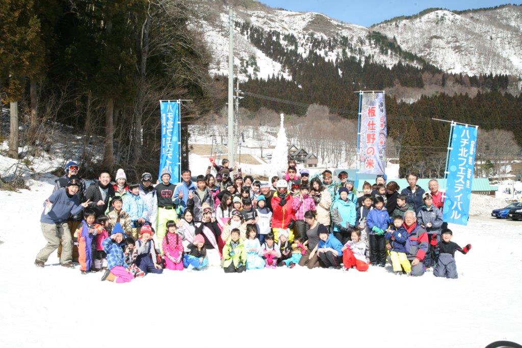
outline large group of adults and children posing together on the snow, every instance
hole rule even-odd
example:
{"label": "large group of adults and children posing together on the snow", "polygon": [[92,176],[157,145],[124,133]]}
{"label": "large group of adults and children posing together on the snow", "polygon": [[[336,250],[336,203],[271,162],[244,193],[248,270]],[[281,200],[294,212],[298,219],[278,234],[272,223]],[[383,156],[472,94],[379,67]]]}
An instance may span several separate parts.
{"label": "large group of adults and children posing together on the snow", "polygon": [[78,262],[81,273],[104,270],[102,280],[115,282],[164,269],[366,271],[387,262],[398,275],[433,268],[437,277],[457,278],[455,251],[471,248],[450,241],[436,180],[425,192],[410,173],[409,186],[399,193],[396,182],[377,175],[358,195],[346,172],[336,182],[329,170],[312,176],[289,161],[262,182],[230,164],[211,158],[206,175],[193,182],[191,171],[182,170],[177,184],[167,169],[156,184],[150,173],[129,184],[123,169],[114,182],[101,171],[86,187],[78,164],[69,161],[44,202],[40,222],[47,244],[35,265],[44,267],[58,249],[63,267]]}

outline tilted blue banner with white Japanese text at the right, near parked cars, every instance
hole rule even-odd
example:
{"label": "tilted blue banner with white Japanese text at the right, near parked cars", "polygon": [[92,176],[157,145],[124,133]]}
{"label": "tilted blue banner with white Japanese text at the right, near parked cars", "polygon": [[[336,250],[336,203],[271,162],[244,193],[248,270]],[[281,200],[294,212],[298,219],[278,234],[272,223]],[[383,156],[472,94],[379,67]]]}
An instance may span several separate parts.
{"label": "tilted blue banner with white Japanese text at the right, near parked cars", "polygon": [[475,126],[453,125],[443,210],[445,222],[468,224],[477,130]]}

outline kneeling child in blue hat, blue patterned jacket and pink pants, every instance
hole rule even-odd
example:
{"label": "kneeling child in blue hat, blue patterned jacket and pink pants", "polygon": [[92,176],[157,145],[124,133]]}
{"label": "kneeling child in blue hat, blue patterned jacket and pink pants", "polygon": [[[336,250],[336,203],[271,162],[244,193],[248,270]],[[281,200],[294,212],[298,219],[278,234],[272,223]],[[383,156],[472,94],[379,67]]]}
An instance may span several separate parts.
{"label": "kneeling child in blue hat, blue patterned jacket and pink pants", "polygon": [[102,242],[103,251],[107,254],[108,270],[102,277],[102,281],[109,280],[116,283],[126,283],[134,279],[134,274],[127,270],[125,256],[121,243],[123,241],[122,225],[117,222],[114,225],[110,238],[105,238]]}

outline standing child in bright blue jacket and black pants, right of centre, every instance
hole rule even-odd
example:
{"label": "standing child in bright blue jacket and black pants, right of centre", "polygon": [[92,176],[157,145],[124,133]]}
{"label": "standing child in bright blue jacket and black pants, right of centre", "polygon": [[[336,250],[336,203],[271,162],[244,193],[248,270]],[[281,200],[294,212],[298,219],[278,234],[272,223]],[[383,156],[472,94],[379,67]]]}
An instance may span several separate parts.
{"label": "standing child in bright blue jacket and black pants, right of centre", "polygon": [[381,196],[375,196],[373,204],[375,209],[368,213],[366,219],[370,229],[370,261],[372,266],[384,267],[386,265],[384,233],[392,221],[384,208],[384,199]]}

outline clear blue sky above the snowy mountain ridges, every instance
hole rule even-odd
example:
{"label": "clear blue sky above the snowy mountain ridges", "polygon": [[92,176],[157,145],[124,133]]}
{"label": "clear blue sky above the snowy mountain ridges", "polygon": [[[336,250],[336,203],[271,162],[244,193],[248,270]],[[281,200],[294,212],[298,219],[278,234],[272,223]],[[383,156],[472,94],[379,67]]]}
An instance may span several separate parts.
{"label": "clear blue sky above the snowy mountain ridges", "polygon": [[[485,0],[260,0],[271,7],[282,7],[293,11],[314,11],[332,18],[369,27],[372,24],[396,16],[413,15],[430,7],[442,7],[450,10],[491,7],[503,5],[505,1]],[[521,1],[509,1],[521,4]]]}

